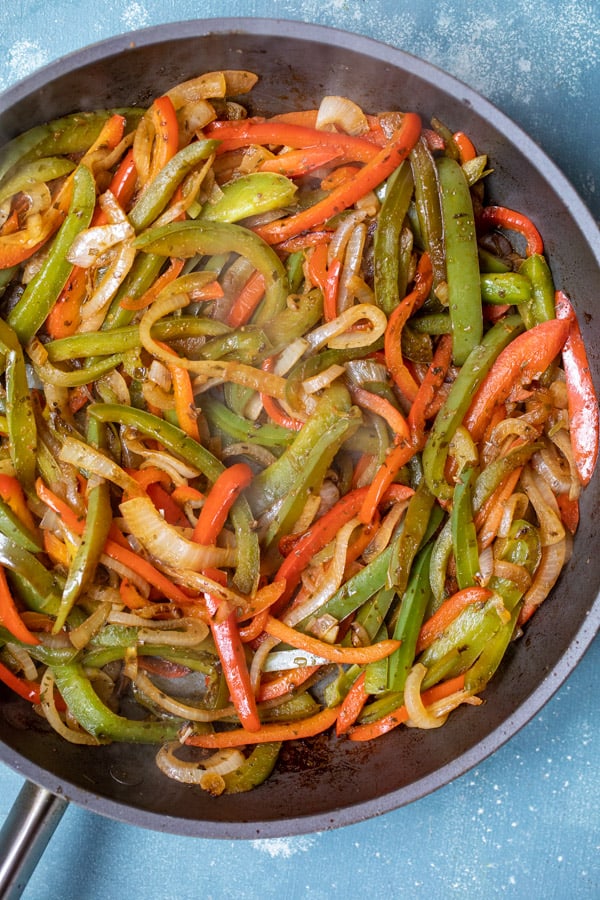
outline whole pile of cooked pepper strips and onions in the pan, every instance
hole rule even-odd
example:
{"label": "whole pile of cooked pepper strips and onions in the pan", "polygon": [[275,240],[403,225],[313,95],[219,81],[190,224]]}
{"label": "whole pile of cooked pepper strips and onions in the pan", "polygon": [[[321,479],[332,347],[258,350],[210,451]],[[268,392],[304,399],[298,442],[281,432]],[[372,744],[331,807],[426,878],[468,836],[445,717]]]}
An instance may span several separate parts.
{"label": "whole pile of cooked pepper strips and onions in the pan", "polygon": [[0,679],[215,795],[482,703],[598,448],[485,148],[344,97],[251,117],[256,80],[0,151]]}

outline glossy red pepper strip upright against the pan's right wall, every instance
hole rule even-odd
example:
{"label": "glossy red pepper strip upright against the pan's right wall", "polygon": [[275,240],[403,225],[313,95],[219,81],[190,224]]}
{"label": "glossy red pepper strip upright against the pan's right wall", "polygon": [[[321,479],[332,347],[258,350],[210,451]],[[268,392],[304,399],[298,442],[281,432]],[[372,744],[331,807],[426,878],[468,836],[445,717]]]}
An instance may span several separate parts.
{"label": "glossy red pepper strip upright against the pan's right wall", "polygon": [[585,486],[598,459],[598,397],[575,310],[562,291],[556,293],[556,315],[569,324],[562,352],[567,382],[569,434],[579,479]]}

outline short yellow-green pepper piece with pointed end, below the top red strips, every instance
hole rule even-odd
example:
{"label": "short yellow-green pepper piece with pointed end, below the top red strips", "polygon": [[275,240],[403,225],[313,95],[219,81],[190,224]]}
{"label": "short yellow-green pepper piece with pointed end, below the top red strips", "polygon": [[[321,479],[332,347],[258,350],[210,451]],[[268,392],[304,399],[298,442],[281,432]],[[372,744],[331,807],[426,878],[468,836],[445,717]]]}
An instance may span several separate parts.
{"label": "short yellow-green pepper piece with pointed end, below the top red strips", "polygon": [[285,175],[252,172],[224,184],[214,203],[205,203],[198,221],[238,222],[248,216],[271,212],[294,201],[297,187]]}

